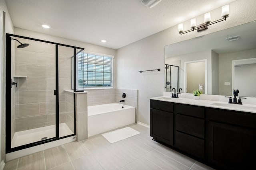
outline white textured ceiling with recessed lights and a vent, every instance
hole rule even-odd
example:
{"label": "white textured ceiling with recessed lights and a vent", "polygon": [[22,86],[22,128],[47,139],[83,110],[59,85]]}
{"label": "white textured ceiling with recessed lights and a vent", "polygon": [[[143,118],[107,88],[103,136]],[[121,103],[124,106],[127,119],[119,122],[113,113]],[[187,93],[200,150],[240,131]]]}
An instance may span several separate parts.
{"label": "white textured ceiling with recessed lights and a vent", "polygon": [[140,1],[6,0],[6,5],[14,27],[118,49],[234,0],[162,0],[151,9]]}

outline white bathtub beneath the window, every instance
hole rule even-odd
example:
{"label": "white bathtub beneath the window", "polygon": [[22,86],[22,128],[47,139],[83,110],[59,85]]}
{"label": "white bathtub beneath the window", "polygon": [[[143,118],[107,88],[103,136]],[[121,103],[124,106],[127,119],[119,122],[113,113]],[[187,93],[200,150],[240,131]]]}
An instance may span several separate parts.
{"label": "white bathtub beneath the window", "polygon": [[88,137],[132,123],[135,107],[119,103],[88,106]]}

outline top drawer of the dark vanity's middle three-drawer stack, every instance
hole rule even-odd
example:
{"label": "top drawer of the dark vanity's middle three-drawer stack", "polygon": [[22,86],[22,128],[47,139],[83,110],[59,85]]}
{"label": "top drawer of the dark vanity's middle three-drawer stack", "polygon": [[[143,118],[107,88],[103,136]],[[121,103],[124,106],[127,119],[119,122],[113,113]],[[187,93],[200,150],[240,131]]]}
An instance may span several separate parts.
{"label": "top drawer of the dark vanity's middle three-drawer stack", "polygon": [[204,107],[175,104],[175,112],[183,115],[204,118]]}

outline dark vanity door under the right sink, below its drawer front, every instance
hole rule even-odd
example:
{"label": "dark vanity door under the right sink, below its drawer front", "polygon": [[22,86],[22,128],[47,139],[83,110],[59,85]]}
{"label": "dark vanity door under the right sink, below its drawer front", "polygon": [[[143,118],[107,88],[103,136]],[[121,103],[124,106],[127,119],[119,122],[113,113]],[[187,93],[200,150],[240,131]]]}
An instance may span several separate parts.
{"label": "dark vanity door under the right sink, below its drawer front", "polygon": [[208,158],[217,167],[255,168],[256,130],[209,121]]}

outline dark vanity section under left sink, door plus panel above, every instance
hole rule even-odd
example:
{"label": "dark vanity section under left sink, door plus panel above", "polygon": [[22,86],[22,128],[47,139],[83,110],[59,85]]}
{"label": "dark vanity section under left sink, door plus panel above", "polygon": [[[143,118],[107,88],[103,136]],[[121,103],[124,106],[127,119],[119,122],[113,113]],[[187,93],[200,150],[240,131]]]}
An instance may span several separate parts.
{"label": "dark vanity section under left sink, door plus panel above", "polygon": [[173,105],[169,105],[169,102],[150,101],[150,136],[156,141],[173,145],[173,113],[168,112],[172,111]]}

